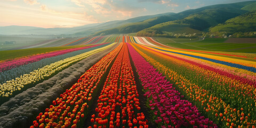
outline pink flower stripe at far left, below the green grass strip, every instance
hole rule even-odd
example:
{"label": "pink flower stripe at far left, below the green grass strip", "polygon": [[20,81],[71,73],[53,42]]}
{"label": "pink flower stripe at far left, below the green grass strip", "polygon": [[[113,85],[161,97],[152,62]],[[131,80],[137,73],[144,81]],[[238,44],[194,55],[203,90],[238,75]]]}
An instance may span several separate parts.
{"label": "pink flower stripe at far left, below the green grass strip", "polygon": [[10,70],[10,69],[15,68],[15,67],[19,67],[21,65],[26,65],[28,63],[36,62],[36,61],[42,60],[44,58],[51,58],[51,57],[55,57],[57,55],[62,55],[62,54],[66,54],[66,53],[69,53],[69,52],[83,50],[83,49],[89,49],[90,47],[95,47],[95,46],[99,46],[99,45],[103,45],[103,44],[79,47],[79,48],[75,48],[75,49],[54,51],[54,52],[50,52],[50,53],[34,55],[34,56],[29,57],[29,58],[21,58],[21,59],[12,60],[12,61],[6,61],[6,62],[3,62],[3,63],[0,63],[1,64],[0,72],[5,71],[5,70]]}

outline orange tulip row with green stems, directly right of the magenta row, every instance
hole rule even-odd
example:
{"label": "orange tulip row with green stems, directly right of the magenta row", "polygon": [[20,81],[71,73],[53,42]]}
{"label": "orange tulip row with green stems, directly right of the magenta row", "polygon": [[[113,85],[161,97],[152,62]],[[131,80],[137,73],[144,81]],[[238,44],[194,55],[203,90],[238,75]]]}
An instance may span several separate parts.
{"label": "orange tulip row with green stems, directly right of the magenta row", "polygon": [[[142,49],[142,47],[140,48]],[[185,97],[188,98],[190,101],[194,102],[195,105],[198,108],[200,108],[202,111],[204,111],[207,117],[211,118],[214,121],[214,123],[216,123],[217,125],[220,125],[222,127],[255,126],[256,124],[255,113],[254,113],[255,101],[253,101],[252,104],[250,104],[247,101],[245,102],[244,100],[241,100],[244,98],[244,96],[240,94],[234,95],[235,89],[232,89],[230,87],[226,88],[227,89],[226,91],[221,92],[222,95],[227,95],[225,99],[218,98],[217,96],[214,96],[214,95],[218,94],[217,92],[220,88],[223,88],[221,87],[221,85],[216,87],[208,86],[210,89],[209,88],[205,89],[209,83],[195,84],[190,80],[191,78],[202,78],[201,76],[197,76],[196,74],[193,74],[194,77],[188,77],[188,76],[185,76],[187,75],[185,74],[185,72],[181,75],[181,74],[178,74],[177,71],[172,70],[173,67],[166,67],[165,66],[167,65],[166,63],[171,62],[171,59],[173,58],[170,58],[169,56],[164,54],[158,54],[156,52],[151,51],[158,58],[162,59],[161,61],[159,60],[159,62],[161,62],[159,63],[158,61],[149,57],[145,53],[142,53],[141,51],[138,51],[138,52],[148,62],[150,62],[151,65],[156,67],[158,70],[162,71],[164,75],[168,76],[170,81],[175,83],[175,86],[178,87],[180,92],[183,95],[185,95]],[[191,71],[191,67],[186,68],[186,70],[188,69],[189,69],[188,73],[194,73],[193,71]],[[180,67],[179,70],[183,70],[183,69]],[[219,78],[218,74],[215,74],[215,77]],[[225,79],[223,80],[225,81]],[[204,81],[204,79],[202,78],[201,81]],[[244,87],[242,89],[246,90],[246,88]],[[239,92],[243,94],[243,91],[239,91]],[[238,101],[230,100],[234,97],[237,98]],[[247,98],[247,100],[249,99]],[[233,104],[229,105],[228,103],[226,103],[226,101],[233,102]],[[234,102],[236,102],[236,104]],[[241,102],[243,105],[241,104]],[[246,104],[247,106],[244,106],[244,104]]]}

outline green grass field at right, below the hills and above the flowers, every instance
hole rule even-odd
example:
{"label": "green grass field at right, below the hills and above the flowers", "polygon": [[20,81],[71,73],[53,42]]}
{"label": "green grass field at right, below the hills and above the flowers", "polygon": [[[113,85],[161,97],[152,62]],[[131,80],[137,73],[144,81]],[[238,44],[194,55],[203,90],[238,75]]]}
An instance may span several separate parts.
{"label": "green grass field at right, below the hills and above the flowers", "polygon": [[159,43],[180,49],[222,51],[222,52],[243,52],[256,53],[256,43],[225,43],[223,38],[206,38],[203,41],[199,39],[188,38],[155,38]]}

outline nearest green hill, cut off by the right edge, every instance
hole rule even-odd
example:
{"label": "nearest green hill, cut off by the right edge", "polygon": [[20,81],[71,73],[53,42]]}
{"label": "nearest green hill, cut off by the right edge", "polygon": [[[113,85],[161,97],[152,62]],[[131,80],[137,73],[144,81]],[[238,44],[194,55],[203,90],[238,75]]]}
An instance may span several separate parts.
{"label": "nearest green hill, cut off by the right edge", "polygon": [[225,23],[212,27],[212,33],[225,33],[233,35],[237,32],[245,33],[256,31],[256,11],[248,12],[238,17],[227,20]]}

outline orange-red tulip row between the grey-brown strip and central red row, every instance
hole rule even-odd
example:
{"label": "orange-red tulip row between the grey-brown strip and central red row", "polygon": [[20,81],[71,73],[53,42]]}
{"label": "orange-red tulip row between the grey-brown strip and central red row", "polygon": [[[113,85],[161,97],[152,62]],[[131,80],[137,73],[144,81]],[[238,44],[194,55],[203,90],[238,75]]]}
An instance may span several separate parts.
{"label": "orange-red tulip row between the grey-brown strip and central red row", "polygon": [[97,93],[100,79],[105,74],[122,45],[108,53],[99,62],[86,71],[69,90],[53,100],[52,105],[39,113],[30,127],[77,127],[90,105],[92,96]]}

